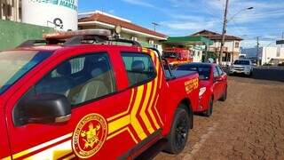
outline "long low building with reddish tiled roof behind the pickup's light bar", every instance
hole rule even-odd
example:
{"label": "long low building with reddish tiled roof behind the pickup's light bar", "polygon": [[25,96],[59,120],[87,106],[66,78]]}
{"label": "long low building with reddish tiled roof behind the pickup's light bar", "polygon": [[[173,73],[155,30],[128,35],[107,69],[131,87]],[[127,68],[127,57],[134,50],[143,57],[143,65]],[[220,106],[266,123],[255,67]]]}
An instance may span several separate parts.
{"label": "long low building with reddish tiled roof behind the pickup's light bar", "polygon": [[155,32],[154,30],[140,27],[130,20],[108,14],[106,12],[83,12],[78,14],[79,29],[106,28],[114,29],[115,26],[122,27],[121,37],[138,41],[145,47],[154,47],[162,52],[161,40],[166,40],[167,36]]}

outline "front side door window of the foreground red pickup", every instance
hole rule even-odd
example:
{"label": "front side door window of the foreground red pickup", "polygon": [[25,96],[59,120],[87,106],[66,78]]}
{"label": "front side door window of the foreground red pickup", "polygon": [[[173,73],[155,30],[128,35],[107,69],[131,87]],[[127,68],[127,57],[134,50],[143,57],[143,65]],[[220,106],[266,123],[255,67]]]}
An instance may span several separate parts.
{"label": "front side door window of the foreground red pickup", "polygon": [[36,94],[65,95],[75,106],[115,92],[114,73],[106,53],[66,60],[36,84]]}

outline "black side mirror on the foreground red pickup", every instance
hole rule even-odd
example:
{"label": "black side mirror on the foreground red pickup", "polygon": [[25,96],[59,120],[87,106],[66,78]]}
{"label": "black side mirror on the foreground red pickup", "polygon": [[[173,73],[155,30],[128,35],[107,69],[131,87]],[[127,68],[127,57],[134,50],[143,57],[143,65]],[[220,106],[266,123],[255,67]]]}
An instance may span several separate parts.
{"label": "black side mirror on the foreground red pickup", "polygon": [[15,125],[64,123],[70,118],[71,105],[59,94],[25,97],[13,110]]}

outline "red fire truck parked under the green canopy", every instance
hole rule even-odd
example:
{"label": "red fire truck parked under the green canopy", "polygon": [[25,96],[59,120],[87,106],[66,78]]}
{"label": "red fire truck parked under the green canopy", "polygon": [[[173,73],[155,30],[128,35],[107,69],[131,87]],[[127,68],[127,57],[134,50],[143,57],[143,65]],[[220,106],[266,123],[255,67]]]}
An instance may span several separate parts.
{"label": "red fire truck parked under the green canopy", "polygon": [[193,61],[191,52],[184,48],[166,48],[162,53],[162,57],[168,60],[169,64],[174,67]]}

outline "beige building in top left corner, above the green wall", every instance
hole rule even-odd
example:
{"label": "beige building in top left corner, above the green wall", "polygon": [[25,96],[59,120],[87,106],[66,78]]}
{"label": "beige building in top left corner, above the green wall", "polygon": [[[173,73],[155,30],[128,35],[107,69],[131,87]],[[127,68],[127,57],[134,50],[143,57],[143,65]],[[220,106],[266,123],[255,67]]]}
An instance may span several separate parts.
{"label": "beige building in top left corner, above the green wall", "polygon": [[21,0],[0,0],[0,20],[21,20]]}

